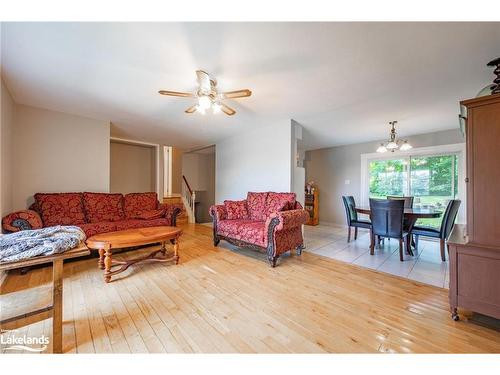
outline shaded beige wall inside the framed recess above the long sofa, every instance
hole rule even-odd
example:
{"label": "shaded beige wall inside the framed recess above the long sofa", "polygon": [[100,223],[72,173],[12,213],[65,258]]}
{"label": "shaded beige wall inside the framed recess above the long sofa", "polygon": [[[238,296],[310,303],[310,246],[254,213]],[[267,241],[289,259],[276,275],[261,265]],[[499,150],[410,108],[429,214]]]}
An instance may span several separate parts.
{"label": "shaded beige wall inside the framed recess above the long sofa", "polygon": [[110,171],[112,193],[156,191],[156,148],[113,141]]}

